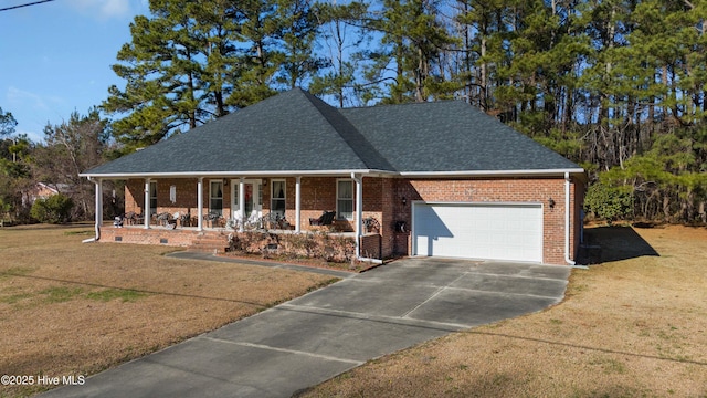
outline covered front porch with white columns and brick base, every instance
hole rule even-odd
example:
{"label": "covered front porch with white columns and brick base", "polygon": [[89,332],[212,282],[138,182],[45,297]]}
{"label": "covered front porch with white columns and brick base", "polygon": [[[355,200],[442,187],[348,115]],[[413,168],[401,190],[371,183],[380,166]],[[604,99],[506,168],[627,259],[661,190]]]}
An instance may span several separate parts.
{"label": "covered front porch with white columns and brick base", "polygon": [[[379,179],[367,177],[367,185]],[[103,180],[92,178],[96,209],[103,208]],[[368,196],[362,174],[155,175],[125,180],[125,213],[115,214],[120,218],[119,226],[113,220],[104,222],[102,211],[96,211],[94,240],[222,252],[232,245],[234,237],[244,233],[326,234],[351,239],[356,259],[379,260],[384,255],[380,243],[383,209],[365,203]]]}

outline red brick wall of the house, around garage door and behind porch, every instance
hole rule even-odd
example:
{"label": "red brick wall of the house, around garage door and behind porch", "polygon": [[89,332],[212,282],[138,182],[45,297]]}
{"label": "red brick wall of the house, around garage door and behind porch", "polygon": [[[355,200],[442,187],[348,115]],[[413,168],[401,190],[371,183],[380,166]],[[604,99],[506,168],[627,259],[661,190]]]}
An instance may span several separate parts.
{"label": "red brick wall of the house, around garage door and behind porch", "polygon": [[[277,178],[274,178],[277,180]],[[317,218],[323,211],[336,210],[335,177],[302,178],[302,230],[312,229],[309,218]],[[344,178],[347,179],[347,178]],[[231,181],[223,179],[223,216],[231,217]],[[263,213],[270,212],[272,178],[263,179]],[[286,180],[286,212],[291,223],[295,221],[295,181]],[[170,187],[177,189],[177,198],[170,201]],[[144,179],[130,179],[126,185],[126,212],[141,213],[144,206]],[[197,179],[159,179],[157,180],[157,212],[189,212],[193,217],[202,213],[197,209]],[[579,248],[581,228],[580,210],[584,195],[584,186],[572,180],[570,253]],[[209,179],[204,178],[203,213],[209,207]],[[549,199],[555,207],[548,206]],[[578,200],[574,200],[578,199]],[[376,218],[380,223],[379,251],[382,258],[411,253],[412,242],[410,227],[412,202],[536,202],[544,209],[544,262],[564,264],[564,180],[563,178],[515,178],[515,179],[400,179],[400,178],[363,178],[363,218]],[[405,231],[395,230],[399,222],[405,223]],[[355,221],[337,221],[338,230],[352,231]],[[573,258],[573,255],[571,255]]]}

